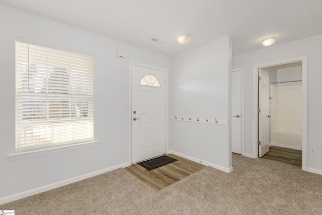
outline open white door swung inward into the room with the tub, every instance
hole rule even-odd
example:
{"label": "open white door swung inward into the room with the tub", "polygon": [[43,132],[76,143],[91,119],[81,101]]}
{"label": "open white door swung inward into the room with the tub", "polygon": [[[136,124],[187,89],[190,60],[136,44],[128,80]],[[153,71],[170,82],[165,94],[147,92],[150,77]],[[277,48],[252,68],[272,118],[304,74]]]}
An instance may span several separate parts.
{"label": "open white door swung inward into the room with the tub", "polygon": [[269,74],[263,69],[259,69],[258,83],[258,156],[261,158],[269,152]]}

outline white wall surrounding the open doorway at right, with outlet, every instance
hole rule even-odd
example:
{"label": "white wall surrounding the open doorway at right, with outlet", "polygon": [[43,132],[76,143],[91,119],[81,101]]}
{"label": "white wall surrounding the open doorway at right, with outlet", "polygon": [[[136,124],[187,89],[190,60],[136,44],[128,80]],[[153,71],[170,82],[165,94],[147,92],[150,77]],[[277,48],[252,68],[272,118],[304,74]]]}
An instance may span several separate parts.
{"label": "white wall surrounding the open doorway at right, with outlet", "polygon": [[[257,51],[235,55],[232,67],[245,69],[245,153],[253,154],[253,66],[300,56],[308,56],[307,148],[316,147],[316,155],[307,154],[307,169],[322,174],[322,132],[319,122],[322,99],[322,34]],[[307,150],[309,152],[309,150]]]}

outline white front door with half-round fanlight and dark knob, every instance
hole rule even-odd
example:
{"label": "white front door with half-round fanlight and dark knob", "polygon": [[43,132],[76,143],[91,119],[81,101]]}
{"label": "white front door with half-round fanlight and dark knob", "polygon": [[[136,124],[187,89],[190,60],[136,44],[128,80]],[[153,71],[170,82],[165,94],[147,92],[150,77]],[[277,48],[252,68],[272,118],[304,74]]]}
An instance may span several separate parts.
{"label": "white front door with half-round fanlight and dark knob", "polygon": [[132,65],[132,163],[166,154],[165,71]]}

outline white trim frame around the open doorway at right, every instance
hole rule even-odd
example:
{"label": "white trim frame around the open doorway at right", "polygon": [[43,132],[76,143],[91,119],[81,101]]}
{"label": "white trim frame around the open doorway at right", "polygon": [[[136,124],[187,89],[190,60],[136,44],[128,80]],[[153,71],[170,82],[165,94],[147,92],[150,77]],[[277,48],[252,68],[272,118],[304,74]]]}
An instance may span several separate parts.
{"label": "white trim frame around the open doorway at right", "polygon": [[307,56],[253,66],[253,158],[258,158],[258,69],[300,61],[302,62],[302,170],[307,171]]}

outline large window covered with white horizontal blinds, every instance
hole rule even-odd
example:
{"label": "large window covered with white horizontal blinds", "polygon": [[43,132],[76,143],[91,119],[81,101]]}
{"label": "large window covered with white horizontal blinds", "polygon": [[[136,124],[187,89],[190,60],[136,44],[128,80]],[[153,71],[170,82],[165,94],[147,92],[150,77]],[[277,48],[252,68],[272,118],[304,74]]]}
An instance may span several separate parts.
{"label": "large window covered with white horizontal blinds", "polygon": [[93,136],[93,56],[17,37],[16,151]]}

